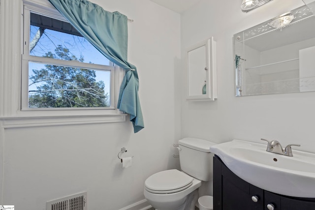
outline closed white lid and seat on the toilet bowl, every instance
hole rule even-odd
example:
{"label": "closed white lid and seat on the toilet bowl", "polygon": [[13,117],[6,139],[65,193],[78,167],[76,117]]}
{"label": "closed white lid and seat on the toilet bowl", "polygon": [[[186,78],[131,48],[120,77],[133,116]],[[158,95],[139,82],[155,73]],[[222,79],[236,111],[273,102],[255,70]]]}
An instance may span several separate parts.
{"label": "closed white lid and seat on the toilet bowl", "polygon": [[193,178],[176,169],[161,171],[149,177],[144,185],[149,192],[173,193],[182,191],[192,184]]}

